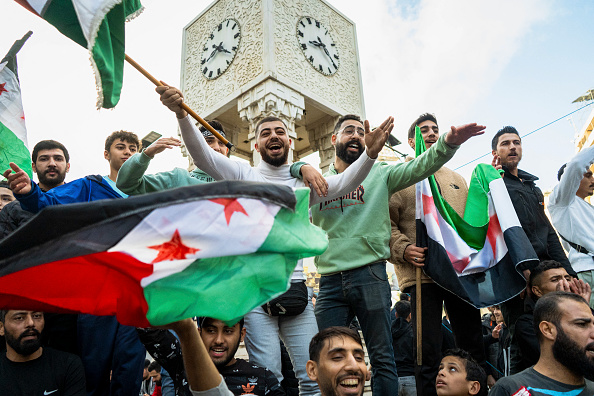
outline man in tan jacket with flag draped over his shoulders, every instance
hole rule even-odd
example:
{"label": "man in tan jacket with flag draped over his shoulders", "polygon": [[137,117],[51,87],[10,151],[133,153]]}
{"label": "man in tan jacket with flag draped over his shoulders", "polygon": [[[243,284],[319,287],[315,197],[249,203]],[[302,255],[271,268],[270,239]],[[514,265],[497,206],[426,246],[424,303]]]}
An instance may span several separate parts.
{"label": "man in tan jacket with flag draped over his shoulders", "polygon": [[[427,149],[432,147],[439,139],[439,127],[433,114],[425,113],[419,116],[408,129],[408,144],[415,148],[416,127],[421,130],[421,136]],[[441,167],[434,174],[439,186],[439,191],[452,208],[464,216],[468,185],[466,180],[458,173]],[[394,271],[398,279],[400,290],[411,296],[412,323],[416,323],[416,267],[425,265],[427,248],[421,248],[416,243],[416,192],[415,186],[400,190],[390,197],[390,220],[392,222],[392,236],[390,238],[390,262],[394,264]],[[445,305],[452,333],[448,338],[459,348],[469,352],[484,370],[487,369],[485,352],[481,333],[480,311],[455,294],[443,289],[433,282],[425,273],[421,275],[421,292],[423,296],[422,315],[422,340],[423,340],[423,365],[415,365],[417,387],[422,389],[424,395],[435,395],[435,377],[437,376],[441,361],[441,351],[450,349],[442,345],[441,326],[442,307]],[[447,330],[446,330],[447,331]],[[416,340],[417,334],[414,333]],[[446,333],[444,333],[444,336]],[[416,342],[412,345],[415,346]]]}

